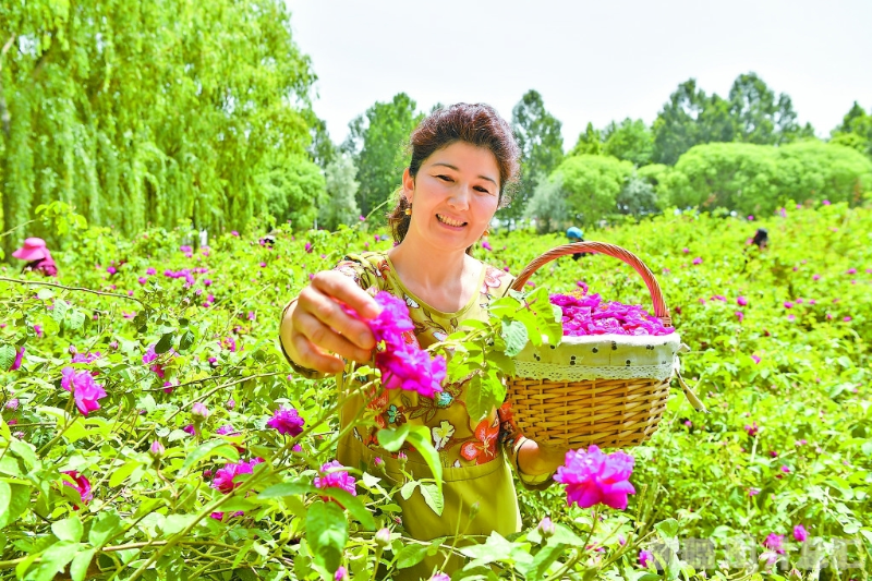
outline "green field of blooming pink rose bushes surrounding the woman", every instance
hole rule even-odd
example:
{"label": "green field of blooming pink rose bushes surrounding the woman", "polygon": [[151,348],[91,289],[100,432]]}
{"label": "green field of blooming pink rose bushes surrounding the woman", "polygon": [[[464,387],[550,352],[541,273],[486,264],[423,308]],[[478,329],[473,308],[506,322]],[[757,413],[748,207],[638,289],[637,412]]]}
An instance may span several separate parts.
{"label": "green field of blooming pink rose bushes surrounding the woman", "polygon": [[[197,247],[189,229],[129,239],[61,204],[44,216],[64,240],[58,278],[0,273],[0,579],[363,580],[437,553],[469,559],[455,581],[870,577],[869,208],[667,211],[589,232],[656,275],[707,413],[674,383],[657,432],[622,450],[625,510],[568,504],[565,483],[519,486],[524,532],[426,543],[404,534],[395,495],[439,511],[438,467],[393,485],[377,462],[332,463],[336,382],[294,374],[277,341],[281,307],[314,273],[390,247],[377,217]],[[749,241],[761,226],[764,251]],[[565,241],[500,231],[474,254],[517,275]],[[528,289],[582,283],[651,307],[639,276],[603,255],[553,262]],[[441,352],[485,370],[496,328]],[[436,437],[400,422],[378,436],[425,458]]]}

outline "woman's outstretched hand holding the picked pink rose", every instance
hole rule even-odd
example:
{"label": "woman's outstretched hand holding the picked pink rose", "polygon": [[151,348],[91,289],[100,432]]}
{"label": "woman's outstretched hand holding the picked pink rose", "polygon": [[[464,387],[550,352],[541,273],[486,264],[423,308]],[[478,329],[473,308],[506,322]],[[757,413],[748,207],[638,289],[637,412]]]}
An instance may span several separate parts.
{"label": "woman's outstretched hand holding the picked pink rose", "polygon": [[375,337],[365,323],[348,315],[342,304],[363,318],[380,307],[341,273],[318,273],[286,311],[279,328],[281,344],[296,364],[323,373],[339,373],[342,359],[366,362]]}

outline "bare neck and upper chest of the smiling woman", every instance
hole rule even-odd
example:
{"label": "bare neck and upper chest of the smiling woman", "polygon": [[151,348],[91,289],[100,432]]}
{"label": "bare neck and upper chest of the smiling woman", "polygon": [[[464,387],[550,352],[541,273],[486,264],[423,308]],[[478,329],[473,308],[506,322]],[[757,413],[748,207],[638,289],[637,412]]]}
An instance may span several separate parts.
{"label": "bare neck and upper chest of the smiling woman", "polygon": [[463,251],[422,247],[407,238],[388,256],[403,286],[438,311],[460,311],[477,291],[483,266]]}

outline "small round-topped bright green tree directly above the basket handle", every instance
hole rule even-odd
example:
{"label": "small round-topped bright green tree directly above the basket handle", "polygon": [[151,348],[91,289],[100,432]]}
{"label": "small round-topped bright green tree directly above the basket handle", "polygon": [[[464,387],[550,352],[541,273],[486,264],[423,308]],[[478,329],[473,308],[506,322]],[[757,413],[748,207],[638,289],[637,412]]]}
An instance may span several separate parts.
{"label": "small round-topped bright green tree directly above the basket handle", "polygon": [[610,156],[568,157],[555,173],[562,180],[568,218],[573,222],[596,223],[617,210],[617,198],[633,165]]}

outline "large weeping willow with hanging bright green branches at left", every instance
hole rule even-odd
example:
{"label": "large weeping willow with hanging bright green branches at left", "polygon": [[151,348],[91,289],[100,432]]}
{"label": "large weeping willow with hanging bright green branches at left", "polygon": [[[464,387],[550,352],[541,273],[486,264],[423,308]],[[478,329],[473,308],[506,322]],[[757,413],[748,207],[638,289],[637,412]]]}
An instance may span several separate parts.
{"label": "large weeping willow with hanging bright green branches at left", "polygon": [[241,228],[266,174],[317,190],[315,76],[282,0],[13,0],[0,47],[0,231],[56,199],[124,233]]}

